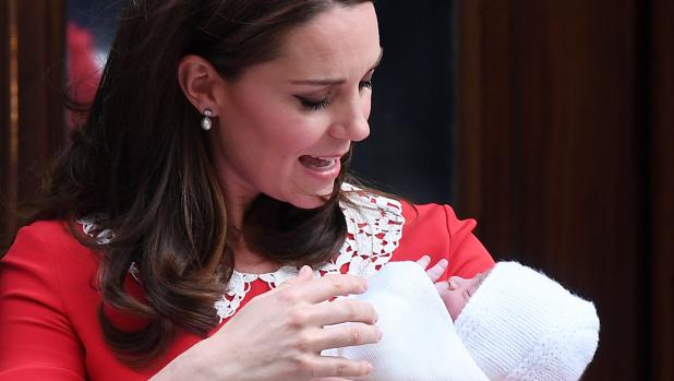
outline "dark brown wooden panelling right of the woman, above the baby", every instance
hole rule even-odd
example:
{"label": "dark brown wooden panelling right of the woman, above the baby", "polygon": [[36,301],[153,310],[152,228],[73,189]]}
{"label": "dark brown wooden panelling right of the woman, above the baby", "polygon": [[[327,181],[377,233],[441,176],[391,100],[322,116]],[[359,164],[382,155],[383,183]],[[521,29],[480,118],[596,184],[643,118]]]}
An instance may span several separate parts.
{"label": "dark brown wooden panelling right of the woman, above the baby", "polygon": [[674,5],[462,5],[460,211],[594,301],[585,380],[674,379]]}

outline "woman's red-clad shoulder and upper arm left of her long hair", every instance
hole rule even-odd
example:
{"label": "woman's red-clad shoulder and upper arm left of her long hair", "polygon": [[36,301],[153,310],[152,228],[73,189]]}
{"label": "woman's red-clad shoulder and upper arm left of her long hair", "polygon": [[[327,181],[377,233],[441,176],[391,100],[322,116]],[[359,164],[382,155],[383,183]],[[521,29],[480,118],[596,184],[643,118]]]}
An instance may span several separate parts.
{"label": "woman's red-clad shoulder and upper arm left of her long hair", "polygon": [[[74,228],[84,233],[82,224]],[[96,379],[105,368],[108,376],[131,379],[100,335],[98,262],[67,222],[39,221],[19,230],[0,262],[0,353],[11,353],[3,374]],[[86,369],[89,360],[98,367]]]}

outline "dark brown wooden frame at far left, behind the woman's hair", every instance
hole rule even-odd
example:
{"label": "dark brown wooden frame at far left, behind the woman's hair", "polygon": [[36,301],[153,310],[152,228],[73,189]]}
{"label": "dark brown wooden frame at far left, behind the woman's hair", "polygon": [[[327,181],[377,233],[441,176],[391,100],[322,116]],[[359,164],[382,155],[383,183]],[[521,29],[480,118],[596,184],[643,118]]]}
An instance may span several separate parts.
{"label": "dark brown wooden frame at far left, behind the woman's hair", "polygon": [[[0,1],[0,253],[64,141],[64,0]],[[14,63],[13,63],[14,62]]]}

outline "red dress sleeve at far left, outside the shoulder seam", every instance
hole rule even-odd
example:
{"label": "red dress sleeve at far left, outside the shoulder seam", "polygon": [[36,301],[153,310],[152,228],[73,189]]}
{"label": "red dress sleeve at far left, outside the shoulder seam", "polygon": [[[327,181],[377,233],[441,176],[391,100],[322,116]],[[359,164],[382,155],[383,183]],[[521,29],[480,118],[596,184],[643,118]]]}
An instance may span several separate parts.
{"label": "red dress sleeve at far left, outside the shoulder seam", "polygon": [[85,380],[49,237],[22,228],[0,262],[0,381]]}

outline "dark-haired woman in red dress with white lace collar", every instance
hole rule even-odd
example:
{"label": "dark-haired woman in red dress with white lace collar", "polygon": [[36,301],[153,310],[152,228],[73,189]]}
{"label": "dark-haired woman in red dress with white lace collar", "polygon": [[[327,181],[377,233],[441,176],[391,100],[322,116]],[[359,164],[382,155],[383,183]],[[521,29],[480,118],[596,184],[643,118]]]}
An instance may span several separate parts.
{"label": "dark-haired woman in red dress with white lace collar", "polygon": [[368,373],[320,353],[376,342],[376,312],[324,301],[389,261],[493,264],[448,206],[352,186],[381,56],[366,0],[132,1],[2,261],[0,380]]}

